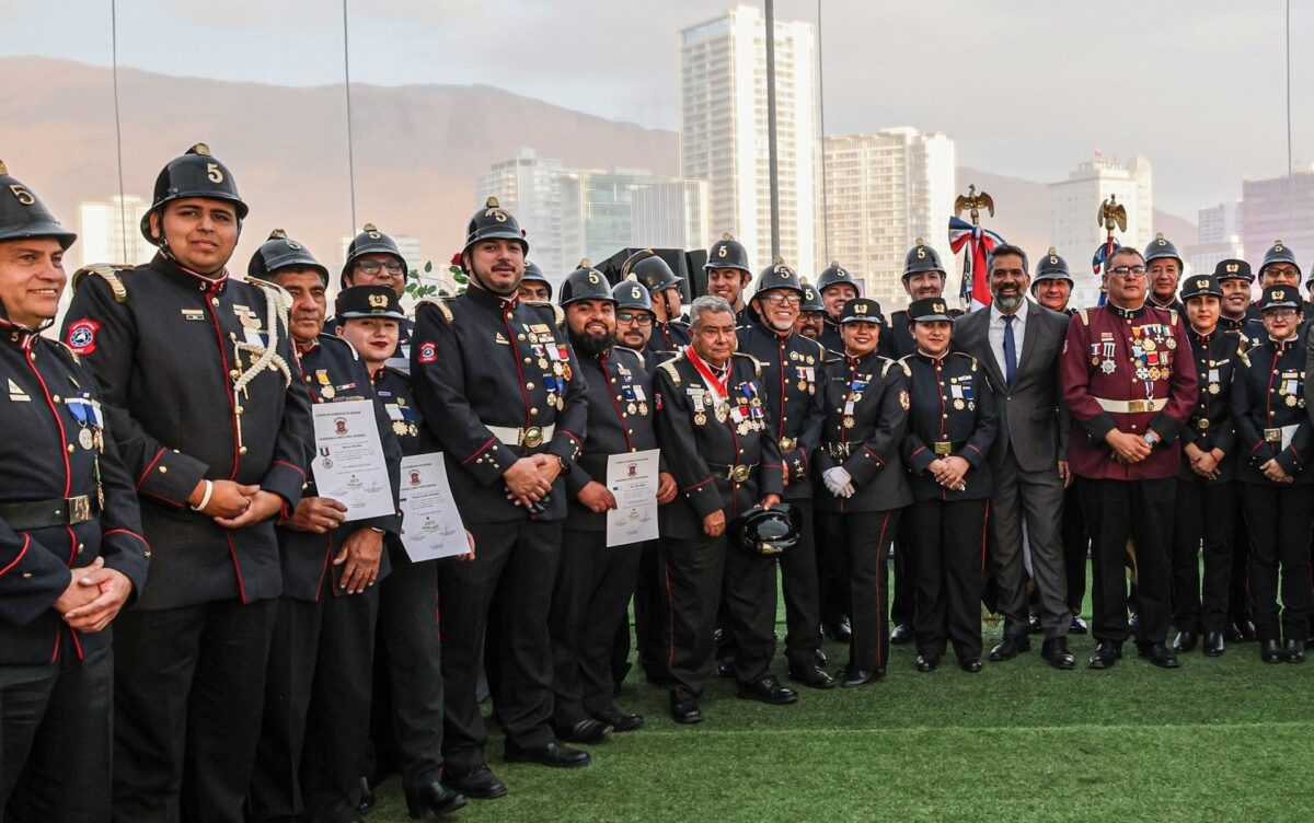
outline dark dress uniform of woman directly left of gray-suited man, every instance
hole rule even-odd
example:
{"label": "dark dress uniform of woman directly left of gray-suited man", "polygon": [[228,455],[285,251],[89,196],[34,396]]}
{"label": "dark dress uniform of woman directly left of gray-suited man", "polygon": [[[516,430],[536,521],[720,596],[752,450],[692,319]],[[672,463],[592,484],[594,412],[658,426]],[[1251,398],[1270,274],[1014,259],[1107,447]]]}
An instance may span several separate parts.
{"label": "dark dress uniform of woman directly left of gray-suited man", "polygon": [[[912,394],[903,457],[915,499],[908,509],[908,539],[917,554],[917,652],[934,665],[947,641],[959,663],[979,663],[986,513],[993,491],[987,454],[999,429],[995,395],[970,354],[918,352],[901,362],[911,374]],[[942,457],[967,461],[966,488],[936,482],[929,467]]]}

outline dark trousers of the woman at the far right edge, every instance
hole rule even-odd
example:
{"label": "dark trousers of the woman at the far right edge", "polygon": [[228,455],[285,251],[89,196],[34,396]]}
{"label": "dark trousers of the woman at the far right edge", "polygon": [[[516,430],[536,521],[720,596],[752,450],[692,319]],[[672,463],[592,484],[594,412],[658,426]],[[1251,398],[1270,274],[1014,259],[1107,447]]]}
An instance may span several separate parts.
{"label": "dark trousers of the woman at the far right edge", "polygon": [[[1250,529],[1250,593],[1260,641],[1309,639],[1310,526],[1314,490],[1309,486],[1239,483]],[[1282,605],[1277,592],[1281,579]]]}

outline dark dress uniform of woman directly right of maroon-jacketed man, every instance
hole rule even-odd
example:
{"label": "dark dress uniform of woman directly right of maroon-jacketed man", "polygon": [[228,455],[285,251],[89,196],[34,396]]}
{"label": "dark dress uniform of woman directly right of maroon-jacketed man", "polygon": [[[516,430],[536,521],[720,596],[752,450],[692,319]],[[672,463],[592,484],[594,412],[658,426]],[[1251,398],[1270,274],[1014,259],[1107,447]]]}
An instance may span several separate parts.
{"label": "dark dress uniform of woman directly right of maroon-jacketed man", "polygon": [[[1173,516],[1172,616],[1177,631],[1218,633],[1227,626],[1236,496],[1236,429],[1231,417],[1233,373],[1240,366],[1240,335],[1214,327],[1209,335],[1187,329],[1200,391],[1183,427],[1183,449],[1223,453],[1217,478],[1190,469],[1185,452],[1177,474]],[[1200,558],[1204,553],[1204,584]]]}

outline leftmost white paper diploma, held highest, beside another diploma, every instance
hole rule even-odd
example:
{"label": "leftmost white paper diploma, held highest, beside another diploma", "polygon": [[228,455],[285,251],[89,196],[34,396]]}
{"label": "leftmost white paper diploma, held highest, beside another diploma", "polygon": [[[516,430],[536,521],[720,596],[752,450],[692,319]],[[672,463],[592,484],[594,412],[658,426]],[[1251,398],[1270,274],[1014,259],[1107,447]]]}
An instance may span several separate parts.
{"label": "leftmost white paper diploma, held highest, beside another diploma", "polygon": [[315,455],[310,463],[321,497],[347,507],[347,520],[392,515],[393,484],[378,442],[373,400],[317,403]]}

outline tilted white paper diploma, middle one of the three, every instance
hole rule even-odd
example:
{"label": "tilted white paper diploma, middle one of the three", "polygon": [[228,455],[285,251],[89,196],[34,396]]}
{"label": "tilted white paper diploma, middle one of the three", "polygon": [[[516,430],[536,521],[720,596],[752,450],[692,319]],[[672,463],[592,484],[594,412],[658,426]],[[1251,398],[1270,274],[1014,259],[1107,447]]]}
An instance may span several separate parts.
{"label": "tilted white paper diploma, middle one of the three", "polygon": [[413,563],[470,550],[440,452],[402,458],[399,499],[402,546]]}

